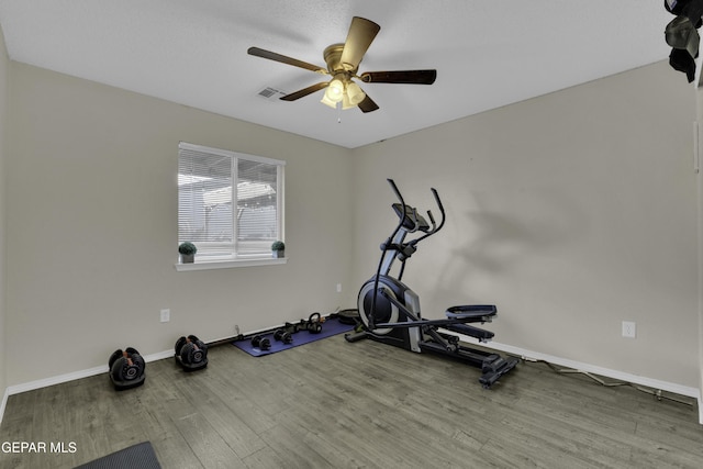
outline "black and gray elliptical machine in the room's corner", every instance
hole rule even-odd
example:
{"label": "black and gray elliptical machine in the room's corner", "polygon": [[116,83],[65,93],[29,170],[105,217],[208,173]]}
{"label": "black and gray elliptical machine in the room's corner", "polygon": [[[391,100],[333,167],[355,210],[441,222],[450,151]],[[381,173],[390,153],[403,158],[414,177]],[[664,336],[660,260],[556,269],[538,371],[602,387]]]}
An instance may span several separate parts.
{"label": "black and gray elliptical machine in the room's corner", "polygon": [[[432,194],[442,214],[439,225],[432,212],[427,211],[429,223],[417,213],[417,209],[405,204],[403,196],[392,179],[388,179],[399,199],[392,208],[399,223],[389,238],[381,244],[381,259],[376,276],[367,280],[359,290],[358,310],[362,331],[346,334],[347,342],[371,338],[377,342],[401,347],[415,353],[435,353],[466,361],[481,368],[479,382],[489,389],[498,379],[517,365],[517,358],[503,358],[498,354],[459,345],[456,335],[439,332],[451,331],[487,343],[493,333],[468,323],[490,323],[498,314],[492,304],[470,304],[451,306],[446,310],[446,319],[425,320],[420,312],[420,297],[404,284],[401,279],[405,261],[417,250],[421,241],[437,233],[444,226],[445,210],[437,191]],[[420,232],[419,237],[405,241],[410,233]],[[401,263],[398,278],[391,276],[395,260]]]}

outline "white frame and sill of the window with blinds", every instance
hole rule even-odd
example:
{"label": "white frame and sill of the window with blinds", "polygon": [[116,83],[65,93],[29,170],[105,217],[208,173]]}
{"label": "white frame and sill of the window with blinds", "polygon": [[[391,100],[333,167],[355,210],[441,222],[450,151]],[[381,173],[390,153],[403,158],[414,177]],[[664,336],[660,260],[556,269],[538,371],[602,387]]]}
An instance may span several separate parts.
{"label": "white frame and sill of the window with blinds", "polygon": [[[222,156],[222,157],[230,157],[232,158],[232,167],[233,170],[231,172],[231,180],[232,180],[232,186],[234,187],[234,185],[237,183],[238,178],[239,178],[239,174],[238,174],[238,161],[239,160],[247,160],[247,161],[254,161],[254,163],[264,163],[267,165],[272,165],[276,166],[276,210],[277,210],[277,220],[276,220],[276,224],[277,224],[277,231],[278,231],[278,235],[277,235],[277,239],[279,241],[283,241],[284,242],[284,227],[286,227],[286,213],[284,213],[284,192],[286,192],[286,182],[284,182],[284,168],[286,168],[286,161],[281,160],[281,159],[275,159],[275,158],[268,158],[268,157],[264,157],[264,156],[257,156],[257,155],[250,155],[250,154],[245,154],[242,152],[234,152],[234,150],[228,150],[228,149],[222,149],[222,148],[214,148],[214,147],[208,147],[208,146],[203,146],[203,145],[198,145],[198,144],[191,144],[191,143],[187,143],[187,142],[179,142],[178,144],[178,166],[179,169],[177,171],[178,177],[181,176],[180,174],[180,163],[181,163],[181,150],[186,150],[186,152],[196,152],[196,153],[202,153],[202,154],[207,154],[207,155],[214,155],[214,156]],[[183,175],[183,176],[192,176],[191,175]],[[177,178],[178,179],[178,178]],[[179,225],[180,225],[180,185],[178,186],[178,213],[177,213],[177,219],[179,221]],[[233,221],[236,221],[236,204],[233,203]],[[223,244],[222,246],[230,246],[231,252],[228,254],[222,254],[222,255],[216,255],[216,254],[210,254],[210,255],[204,255],[202,257],[198,257],[196,256],[196,260],[192,264],[182,264],[180,263],[180,259],[176,263],[176,269],[178,271],[185,271],[185,270],[207,270],[207,269],[222,269],[222,268],[232,268],[232,267],[252,267],[252,266],[267,266],[267,265],[279,265],[279,264],[286,264],[287,263],[287,258],[274,258],[272,255],[269,253],[254,253],[254,254],[242,254],[238,249],[239,245],[241,245],[241,241],[237,239],[237,233],[236,233],[236,222],[233,222],[233,239],[231,242],[231,244]],[[177,228],[177,238],[180,238],[180,233],[179,233],[180,228]],[[180,243],[180,239],[179,239]],[[197,243],[197,242],[196,242]],[[209,242],[205,242],[209,243]],[[249,243],[249,242],[244,242],[244,243]],[[268,241],[255,241],[255,242],[250,242],[252,244],[256,245],[256,244],[260,244],[263,245],[264,243],[269,243]],[[271,242],[272,243],[272,242]],[[213,243],[213,244],[217,244],[217,243]]]}

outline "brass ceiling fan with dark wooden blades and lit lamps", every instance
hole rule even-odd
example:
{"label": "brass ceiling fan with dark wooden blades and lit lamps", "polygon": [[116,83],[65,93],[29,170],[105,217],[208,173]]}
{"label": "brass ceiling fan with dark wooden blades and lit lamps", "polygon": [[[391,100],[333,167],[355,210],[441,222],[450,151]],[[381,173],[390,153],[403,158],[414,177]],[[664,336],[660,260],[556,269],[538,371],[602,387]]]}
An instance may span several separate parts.
{"label": "brass ceiling fan with dark wooden blades and lit lamps", "polygon": [[322,81],[281,97],[283,101],[295,101],[326,88],[322,98],[324,104],[336,108],[338,103],[342,103],[342,109],[358,107],[362,112],[371,112],[379,109],[378,104],[353,81],[353,78],[365,83],[406,85],[432,85],[437,78],[437,70],[365,71],[361,75],[357,75],[364,54],[366,54],[380,30],[381,26],[375,22],[354,16],[344,44],[332,44],[325,48],[323,56],[327,68],[258,47],[249,47],[247,53],[332,76],[330,81]]}

